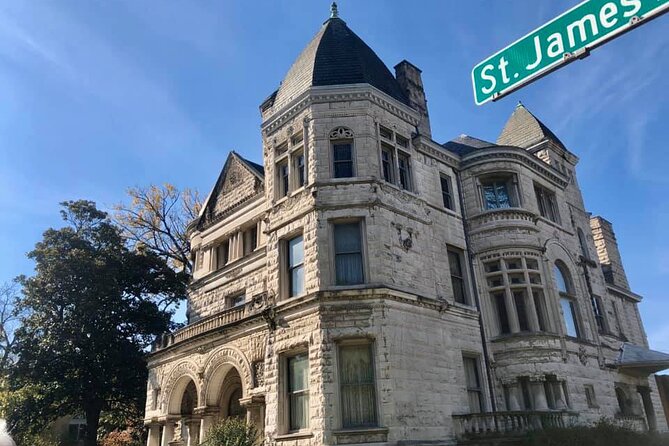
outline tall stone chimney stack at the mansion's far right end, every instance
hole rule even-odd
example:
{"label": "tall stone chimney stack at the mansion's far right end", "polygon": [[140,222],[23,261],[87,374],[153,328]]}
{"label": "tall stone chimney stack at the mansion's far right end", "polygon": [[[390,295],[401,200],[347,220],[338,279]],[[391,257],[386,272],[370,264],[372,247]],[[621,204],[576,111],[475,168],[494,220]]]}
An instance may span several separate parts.
{"label": "tall stone chimney stack at the mansion's far right end", "polygon": [[609,221],[602,217],[590,218],[590,230],[595,239],[595,248],[599,263],[602,265],[604,278],[607,283],[629,290],[627,274],[623,268],[623,261],[618,250],[616,234]]}

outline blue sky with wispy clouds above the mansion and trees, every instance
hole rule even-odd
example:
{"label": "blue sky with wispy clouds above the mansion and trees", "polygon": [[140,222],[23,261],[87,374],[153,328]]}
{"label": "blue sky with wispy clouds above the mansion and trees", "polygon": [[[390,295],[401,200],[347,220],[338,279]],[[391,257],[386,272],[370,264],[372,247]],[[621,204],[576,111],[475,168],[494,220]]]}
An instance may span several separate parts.
{"label": "blue sky with wispy clouds above the mansion and trees", "polygon": [[[511,96],[474,105],[471,68],[576,1],[353,1],[341,17],[390,67],[423,70],[436,140],[495,140],[518,100],[581,159],[586,206],[615,225],[651,346],[669,351],[669,17]],[[329,2],[0,1],[0,282],[60,225],[128,186],[206,195],[230,150],[261,160],[258,105]]]}

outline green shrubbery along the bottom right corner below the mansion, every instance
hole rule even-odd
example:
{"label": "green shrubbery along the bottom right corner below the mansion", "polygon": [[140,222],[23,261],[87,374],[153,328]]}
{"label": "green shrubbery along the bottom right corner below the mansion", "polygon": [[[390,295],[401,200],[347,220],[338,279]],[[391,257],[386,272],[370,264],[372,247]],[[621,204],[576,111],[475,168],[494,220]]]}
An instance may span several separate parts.
{"label": "green shrubbery along the bottom right corner below the mansion", "polygon": [[669,446],[669,437],[637,432],[599,421],[594,426],[575,426],[530,432],[519,446]]}

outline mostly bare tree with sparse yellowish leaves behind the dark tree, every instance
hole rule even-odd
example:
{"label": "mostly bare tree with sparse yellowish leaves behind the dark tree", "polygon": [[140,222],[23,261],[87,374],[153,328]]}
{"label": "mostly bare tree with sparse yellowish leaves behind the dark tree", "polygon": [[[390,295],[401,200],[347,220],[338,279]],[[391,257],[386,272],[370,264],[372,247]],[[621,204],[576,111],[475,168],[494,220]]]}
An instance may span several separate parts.
{"label": "mostly bare tree with sparse yellowish leaves behind the dark tree", "polygon": [[153,251],[177,270],[191,273],[186,228],[202,203],[197,191],[171,184],[128,189],[130,204],[115,207],[114,220],[134,246]]}

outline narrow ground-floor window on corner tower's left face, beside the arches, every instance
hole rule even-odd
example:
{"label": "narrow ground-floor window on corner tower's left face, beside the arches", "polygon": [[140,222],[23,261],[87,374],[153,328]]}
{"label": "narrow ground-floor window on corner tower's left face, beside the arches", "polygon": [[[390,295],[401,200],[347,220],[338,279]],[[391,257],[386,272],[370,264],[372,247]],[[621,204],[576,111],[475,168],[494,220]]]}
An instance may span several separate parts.
{"label": "narrow ground-floor window on corner tower's left face, beside the arches", "polygon": [[306,353],[287,358],[288,430],[309,427],[309,358]]}

